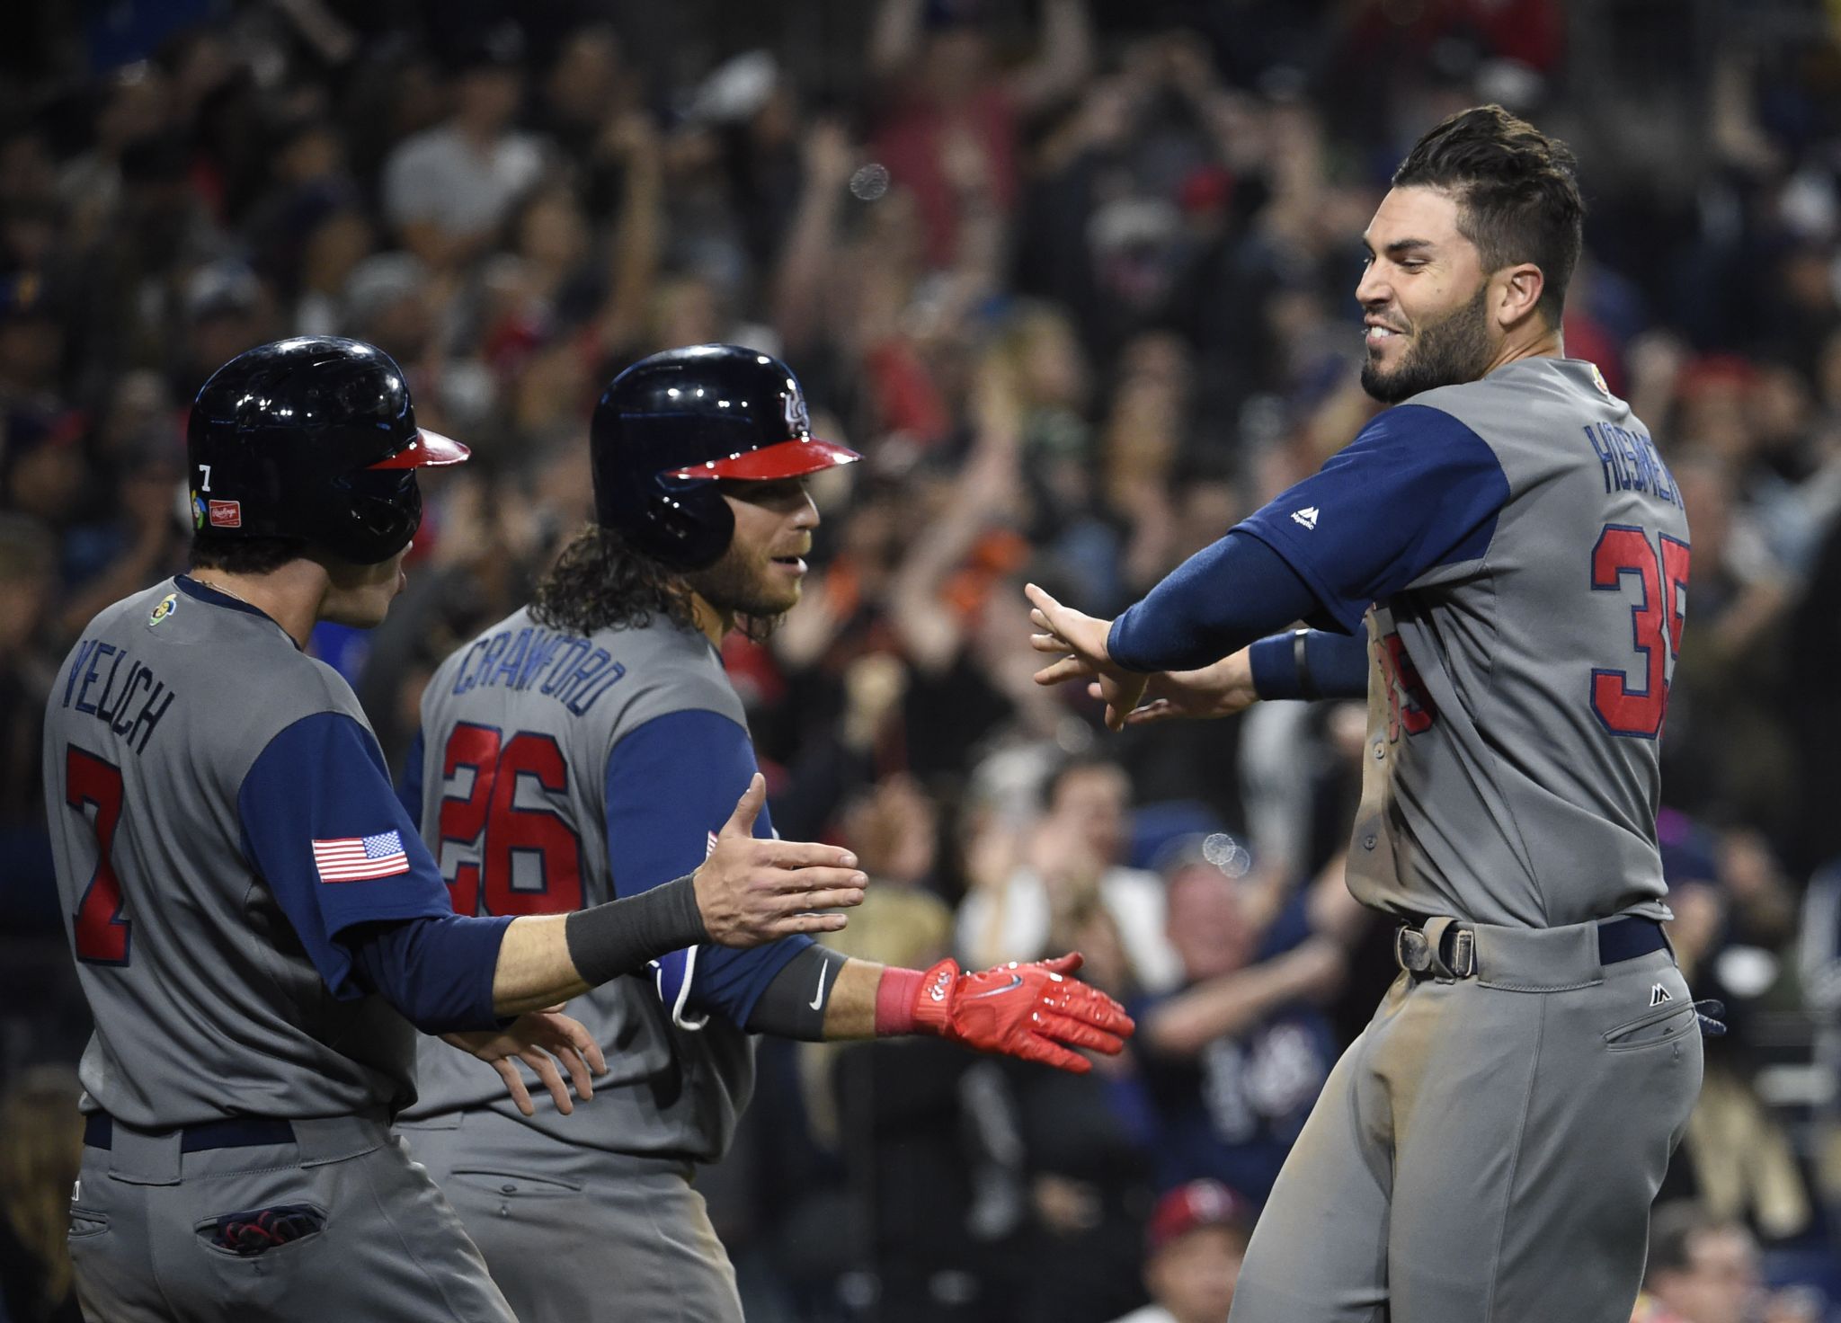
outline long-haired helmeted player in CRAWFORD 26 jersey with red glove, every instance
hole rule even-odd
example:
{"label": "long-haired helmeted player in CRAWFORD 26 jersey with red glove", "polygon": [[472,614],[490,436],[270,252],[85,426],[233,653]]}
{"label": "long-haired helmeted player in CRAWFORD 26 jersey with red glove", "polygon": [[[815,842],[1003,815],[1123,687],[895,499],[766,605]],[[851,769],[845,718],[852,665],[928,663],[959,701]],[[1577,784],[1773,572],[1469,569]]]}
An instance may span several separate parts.
{"label": "long-haired helmeted player in CRAWFORD 26 jersey with red glove", "polygon": [[[403,793],[462,915],[643,896],[703,857],[755,775],[718,644],[799,600],[817,524],[805,478],[858,458],[812,436],[786,364],[722,344],[628,368],[589,443],[595,524],[530,607],[449,657],[423,694],[420,782]],[[764,811],[755,830],[771,834]],[[519,856],[534,841],[567,848],[532,867]],[[1066,977],[1077,966],[922,973],[801,937],[753,953],[687,944],[652,977],[571,1003],[609,1064],[591,1108],[521,1117],[431,1041],[411,1143],[523,1323],[740,1319],[690,1181],[747,1102],[749,1034],[930,1032],[1084,1071],[1068,1047],[1117,1053],[1130,1019]],[[574,1249],[558,1259],[556,1246]]]}

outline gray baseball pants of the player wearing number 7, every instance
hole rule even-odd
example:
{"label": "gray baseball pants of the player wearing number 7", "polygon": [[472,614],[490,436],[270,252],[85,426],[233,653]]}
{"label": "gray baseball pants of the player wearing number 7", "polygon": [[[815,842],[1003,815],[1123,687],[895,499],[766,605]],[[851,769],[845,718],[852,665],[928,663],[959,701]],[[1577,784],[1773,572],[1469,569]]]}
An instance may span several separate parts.
{"label": "gray baseball pants of the player wearing number 7", "polygon": [[[460,1218],[381,1119],[295,1121],[293,1145],[182,1154],[114,1128],[70,1205],[92,1323],[515,1323]],[[232,1213],[307,1207],[324,1229],[260,1255],[214,1244]]]}

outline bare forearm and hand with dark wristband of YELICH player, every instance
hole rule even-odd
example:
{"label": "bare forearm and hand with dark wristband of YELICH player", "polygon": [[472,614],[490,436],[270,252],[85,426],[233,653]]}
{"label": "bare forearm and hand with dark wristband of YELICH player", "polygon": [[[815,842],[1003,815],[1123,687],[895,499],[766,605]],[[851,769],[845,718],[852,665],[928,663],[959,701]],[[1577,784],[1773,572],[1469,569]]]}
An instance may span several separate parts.
{"label": "bare forearm and hand with dark wristband of YELICH player", "polygon": [[760,946],[793,933],[830,933],[863,902],[856,856],[828,845],[757,839],[766,800],[755,773],[716,848],[694,874],[573,915],[532,915],[506,927],[493,1010],[512,1016],[576,997],[648,961],[703,942]]}

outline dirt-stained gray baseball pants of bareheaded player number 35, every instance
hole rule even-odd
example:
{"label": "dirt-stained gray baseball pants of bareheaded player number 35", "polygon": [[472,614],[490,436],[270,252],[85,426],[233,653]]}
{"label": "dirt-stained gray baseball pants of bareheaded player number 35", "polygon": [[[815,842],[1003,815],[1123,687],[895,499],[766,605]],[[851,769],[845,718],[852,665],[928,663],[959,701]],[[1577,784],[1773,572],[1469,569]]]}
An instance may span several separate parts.
{"label": "dirt-stained gray baseball pants of bareheaded player number 35", "polygon": [[1342,1054],[1232,1323],[1629,1321],[1701,1087],[1686,983],[1666,949],[1600,964],[1594,924],[1475,926],[1475,951],[1469,979],[1401,973]]}

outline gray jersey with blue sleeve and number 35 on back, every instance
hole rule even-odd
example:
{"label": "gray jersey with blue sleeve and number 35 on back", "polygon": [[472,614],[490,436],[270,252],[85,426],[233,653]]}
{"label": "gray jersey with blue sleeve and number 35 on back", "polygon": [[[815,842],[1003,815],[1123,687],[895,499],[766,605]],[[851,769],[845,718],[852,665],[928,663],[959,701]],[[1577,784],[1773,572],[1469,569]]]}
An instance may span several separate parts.
{"label": "gray jersey with blue sleeve and number 35 on back", "polygon": [[1419,394],[1241,528],[1346,629],[1366,616],[1357,898],[1528,927],[1668,916],[1657,740],[1688,524],[1592,364]]}

